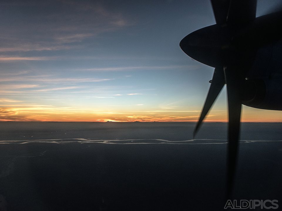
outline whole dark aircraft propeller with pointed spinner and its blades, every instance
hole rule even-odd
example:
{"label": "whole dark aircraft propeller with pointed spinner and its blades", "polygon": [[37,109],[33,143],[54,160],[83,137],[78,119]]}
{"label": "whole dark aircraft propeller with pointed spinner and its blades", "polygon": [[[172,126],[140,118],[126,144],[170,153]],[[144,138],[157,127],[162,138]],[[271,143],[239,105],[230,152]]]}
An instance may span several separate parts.
{"label": "whole dark aircraft propeller with pointed spinner and its blades", "polygon": [[[193,137],[224,84],[227,87],[229,124],[226,197],[229,198],[233,189],[238,154],[242,90],[246,70],[251,66],[255,52],[252,48],[246,49],[248,40],[243,40],[241,31],[256,18],[256,0],[211,0],[211,3],[216,25],[192,32],[183,38],[179,45],[188,56],[215,67]],[[236,40],[238,34],[241,37]]]}

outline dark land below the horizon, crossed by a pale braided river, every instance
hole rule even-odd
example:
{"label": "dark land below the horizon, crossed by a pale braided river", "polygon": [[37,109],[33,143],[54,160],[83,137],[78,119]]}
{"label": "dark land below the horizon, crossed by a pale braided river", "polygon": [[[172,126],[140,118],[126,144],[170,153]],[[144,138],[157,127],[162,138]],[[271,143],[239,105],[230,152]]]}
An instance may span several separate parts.
{"label": "dark land below the horizon, crossed by a pale braided river", "polygon": [[[224,210],[227,123],[194,126],[0,122],[0,211]],[[234,199],[282,207],[281,128],[241,124]]]}

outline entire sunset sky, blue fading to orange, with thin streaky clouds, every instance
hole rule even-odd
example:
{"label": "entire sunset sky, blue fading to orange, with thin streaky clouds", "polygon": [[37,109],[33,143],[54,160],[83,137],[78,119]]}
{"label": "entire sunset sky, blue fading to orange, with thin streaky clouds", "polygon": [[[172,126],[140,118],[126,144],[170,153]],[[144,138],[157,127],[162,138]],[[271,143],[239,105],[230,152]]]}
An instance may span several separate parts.
{"label": "entire sunset sky, blue fading to orange, with thin streaky clouds", "polygon": [[[257,16],[277,1],[258,1]],[[1,1],[1,121],[196,121],[213,68],[180,40],[209,0]],[[226,90],[207,121],[227,121]],[[242,121],[282,122],[243,106]]]}

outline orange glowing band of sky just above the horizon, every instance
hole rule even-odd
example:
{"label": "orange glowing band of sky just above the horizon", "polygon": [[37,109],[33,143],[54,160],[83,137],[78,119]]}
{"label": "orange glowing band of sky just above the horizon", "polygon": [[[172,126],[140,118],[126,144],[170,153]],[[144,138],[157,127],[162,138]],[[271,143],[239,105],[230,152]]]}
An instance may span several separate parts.
{"label": "orange glowing band of sky just above the horizon", "polygon": [[[280,115],[278,115],[280,114]],[[199,110],[105,111],[44,105],[0,108],[0,121],[197,122]],[[205,122],[228,122],[227,111],[212,110]],[[282,122],[281,111],[243,108],[241,122]]]}

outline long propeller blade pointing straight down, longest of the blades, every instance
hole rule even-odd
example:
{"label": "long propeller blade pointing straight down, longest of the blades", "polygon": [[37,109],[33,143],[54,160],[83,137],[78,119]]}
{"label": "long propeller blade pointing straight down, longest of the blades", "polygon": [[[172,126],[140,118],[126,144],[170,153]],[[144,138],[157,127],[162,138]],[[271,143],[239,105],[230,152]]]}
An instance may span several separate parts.
{"label": "long propeller blade pointing straight down, longest of the blades", "polygon": [[240,117],[241,117],[241,85],[244,78],[238,71],[239,68],[225,68],[227,98],[228,98],[228,149],[227,149],[227,197],[230,197],[233,189],[234,174],[238,152]]}

